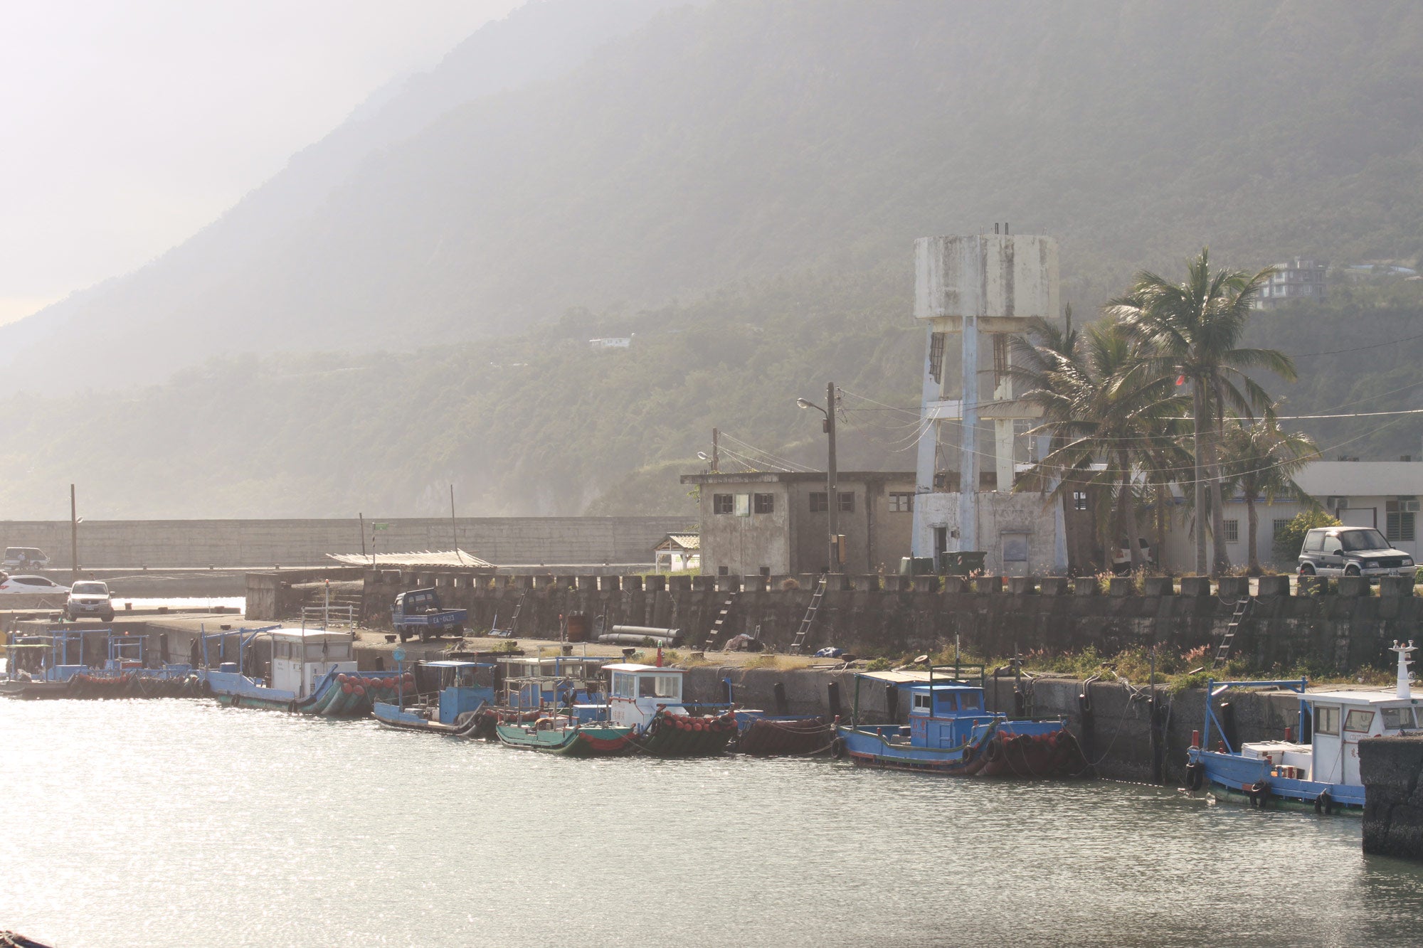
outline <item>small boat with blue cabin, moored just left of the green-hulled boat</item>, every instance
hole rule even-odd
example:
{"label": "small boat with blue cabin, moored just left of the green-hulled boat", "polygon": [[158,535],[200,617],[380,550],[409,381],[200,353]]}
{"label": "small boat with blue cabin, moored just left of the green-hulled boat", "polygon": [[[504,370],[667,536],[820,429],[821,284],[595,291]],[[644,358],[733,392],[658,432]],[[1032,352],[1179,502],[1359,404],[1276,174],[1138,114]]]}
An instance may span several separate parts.
{"label": "small boat with blue cabin, moored just left of the green-hulled boat", "polygon": [[371,713],[386,727],[455,737],[492,736],[494,722],[485,720],[482,712],[494,703],[494,672],[488,662],[417,662],[408,678],[401,672],[401,680],[410,682],[408,690],[403,685],[394,699],[376,702]]}

